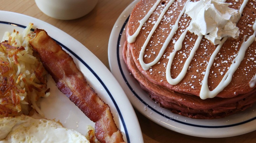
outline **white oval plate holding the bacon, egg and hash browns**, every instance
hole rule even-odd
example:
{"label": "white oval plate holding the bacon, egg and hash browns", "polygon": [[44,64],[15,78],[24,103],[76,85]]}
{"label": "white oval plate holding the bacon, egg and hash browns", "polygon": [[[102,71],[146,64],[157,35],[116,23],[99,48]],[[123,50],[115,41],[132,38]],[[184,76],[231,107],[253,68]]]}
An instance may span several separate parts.
{"label": "white oval plate holding the bacon, egg and hash browns", "polygon": [[[0,35],[5,31],[12,32],[13,29],[23,31],[29,23],[34,24],[33,28],[45,29],[73,57],[91,87],[110,106],[125,141],[142,143],[139,122],[131,103],[115,77],[95,55],[80,42],[48,23],[18,13],[0,11]],[[51,76],[48,77],[47,86],[51,88],[51,95],[41,100],[41,109],[46,118],[60,120],[64,127],[75,129],[83,135],[87,133],[87,125],[94,127],[95,123],[57,89]]]}

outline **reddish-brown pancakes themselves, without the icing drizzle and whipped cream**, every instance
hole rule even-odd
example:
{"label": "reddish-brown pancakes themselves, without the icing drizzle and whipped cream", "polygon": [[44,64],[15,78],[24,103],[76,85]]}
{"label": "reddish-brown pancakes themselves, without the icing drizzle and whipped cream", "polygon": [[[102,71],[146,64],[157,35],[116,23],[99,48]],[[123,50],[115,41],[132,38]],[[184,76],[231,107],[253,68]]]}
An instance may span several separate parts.
{"label": "reddish-brown pancakes themselves, without the icing drizzle and whipped cream", "polygon": [[[134,35],[139,27],[139,21],[145,17],[148,11],[155,5],[156,0],[142,0],[133,9],[126,30],[127,37]],[[157,20],[167,6],[169,1],[160,1],[154,12],[143,23],[139,34],[134,42],[126,42],[124,45],[123,56],[129,71],[138,80],[141,87],[145,89],[149,95],[161,106],[171,109],[175,113],[183,116],[199,119],[214,119],[231,115],[237,111],[245,110],[256,101],[255,85],[250,87],[249,82],[254,78],[256,73],[256,40],[249,44],[245,51],[245,56],[239,67],[231,74],[232,80],[227,86],[223,86],[216,97],[201,99],[200,91],[202,88],[203,78],[205,76],[206,67],[209,60],[218,45],[214,45],[206,38],[200,40],[200,45],[195,54],[191,56],[191,51],[199,38],[199,36],[186,33],[185,39],[182,41],[181,49],[177,51],[171,63],[170,75],[176,78],[182,71],[185,62],[191,56],[188,69],[185,69],[185,75],[177,84],[170,84],[167,79],[166,68],[169,61],[170,53],[174,51],[174,45],[181,37],[181,34],[189,26],[191,18],[188,15],[181,14],[178,21],[178,29],[173,35],[163,54],[157,63],[144,69],[139,61],[141,48],[150,34]],[[171,2],[171,1],[170,1]],[[156,59],[163,47],[167,37],[175,25],[186,1],[174,1],[161,18],[160,24],[157,25],[149,42],[146,43],[143,53],[143,62],[150,63]],[[229,8],[240,9],[243,1],[235,2],[227,0],[230,3]],[[249,0],[244,7],[241,18],[237,23],[240,34],[237,39],[227,38],[217,55],[214,56],[213,64],[210,67],[208,75],[208,88],[210,91],[216,87],[222,87],[221,81],[225,78],[225,74],[229,73],[230,66],[234,62],[243,43],[249,38],[254,38],[253,24],[256,19],[256,3]],[[171,26],[170,26],[171,25]],[[254,24],[255,25],[255,24]],[[256,25],[255,25],[256,27]],[[246,36],[246,37],[245,37]],[[251,37],[250,37],[251,36]],[[241,55],[241,54],[240,54]],[[229,75],[230,76],[230,75]],[[202,90],[203,91],[203,90]],[[202,95],[204,92],[201,93]],[[207,93],[205,93],[207,94]]]}

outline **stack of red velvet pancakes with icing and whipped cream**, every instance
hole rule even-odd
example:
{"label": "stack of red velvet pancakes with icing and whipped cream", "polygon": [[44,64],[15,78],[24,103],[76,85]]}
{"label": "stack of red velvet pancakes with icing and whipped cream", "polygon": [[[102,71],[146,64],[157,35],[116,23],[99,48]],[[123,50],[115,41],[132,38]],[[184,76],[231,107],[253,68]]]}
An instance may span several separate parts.
{"label": "stack of red velvet pancakes with icing and whipped cream", "polygon": [[123,57],[162,107],[216,119],[256,101],[255,0],[141,0]]}

